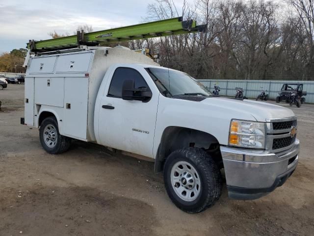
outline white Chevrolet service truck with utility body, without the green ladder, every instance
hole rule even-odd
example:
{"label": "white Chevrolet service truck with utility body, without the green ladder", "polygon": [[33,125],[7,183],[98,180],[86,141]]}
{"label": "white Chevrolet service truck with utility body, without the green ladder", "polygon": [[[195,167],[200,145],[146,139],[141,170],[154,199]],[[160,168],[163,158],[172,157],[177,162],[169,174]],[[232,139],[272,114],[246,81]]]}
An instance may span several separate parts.
{"label": "white Chevrolet service truck with utility body, without the green ladder", "polygon": [[287,108],[215,96],[121,46],[37,54],[26,64],[21,123],[39,128],[48,153],[78,139],[151,158],[186,212],[214,204],[221,173],[229,197],[248,200],[282,185],[297,166],[297,121]]}

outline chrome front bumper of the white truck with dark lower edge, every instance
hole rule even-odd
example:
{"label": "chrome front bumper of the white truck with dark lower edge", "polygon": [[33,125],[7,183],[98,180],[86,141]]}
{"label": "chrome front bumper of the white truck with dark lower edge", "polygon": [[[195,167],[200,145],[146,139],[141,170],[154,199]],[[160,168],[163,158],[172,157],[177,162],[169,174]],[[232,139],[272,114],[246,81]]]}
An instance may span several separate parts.
{"label": "chrome front bumper of the white truck with dark lower edge", "polygon": [[299,150],[297,139],[278,153],[221,146],[229,197],[257,199],[284,184],[298,164]]}

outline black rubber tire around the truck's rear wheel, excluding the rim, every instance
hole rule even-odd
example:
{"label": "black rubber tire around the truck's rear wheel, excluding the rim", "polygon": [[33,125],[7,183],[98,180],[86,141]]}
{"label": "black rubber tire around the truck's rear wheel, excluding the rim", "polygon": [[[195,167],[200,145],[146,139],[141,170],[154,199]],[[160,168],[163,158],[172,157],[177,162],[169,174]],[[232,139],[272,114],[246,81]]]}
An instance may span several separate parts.
{"label": "black rubber tire around the truck's rear wheel, excluding the rim", "polygon": [[[56,130],[56,137],[57,141],[55,145],[51,148],[49,147],[44,138],[44,131],[47,125],[52,125],[55,127]],[[49,153],[49,154],[60,154],[65,151],[67,151],[70,148],[71,145],[71,139],[68,137],[65,137],[59,133],[59,128],[58,128],[58,122],[54,117],[48,117],[43,120],[43,122],[40,125],[39,128],[39,138],[40,138],[40,143],[42,147]]]}

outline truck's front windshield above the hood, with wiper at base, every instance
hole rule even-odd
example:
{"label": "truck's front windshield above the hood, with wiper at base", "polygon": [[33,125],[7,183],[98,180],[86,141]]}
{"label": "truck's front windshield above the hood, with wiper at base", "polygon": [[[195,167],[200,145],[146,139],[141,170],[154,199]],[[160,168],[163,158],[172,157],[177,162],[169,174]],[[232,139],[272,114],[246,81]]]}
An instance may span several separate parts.
{"label": "truck's front windshield above the hood, with wiper at base", "polygon": [[212,96],[204,85],[190,75],[168,68],[146,68],[159,91],[166,97],[176,95]]}

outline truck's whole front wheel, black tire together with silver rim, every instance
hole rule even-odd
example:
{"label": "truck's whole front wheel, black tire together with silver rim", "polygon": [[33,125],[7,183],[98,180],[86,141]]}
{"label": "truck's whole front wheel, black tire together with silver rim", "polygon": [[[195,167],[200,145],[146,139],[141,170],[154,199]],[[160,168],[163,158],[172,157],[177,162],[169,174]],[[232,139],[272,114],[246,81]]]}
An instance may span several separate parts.
{"label": "truck's whole front wheel, black tire together with silver rim", "polygon": [[221,174],[204,150],[178,149],[166,159],[164,183],[169,198],[177,207],[187,213],[197,213],[218,200]]}

